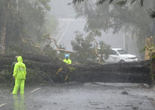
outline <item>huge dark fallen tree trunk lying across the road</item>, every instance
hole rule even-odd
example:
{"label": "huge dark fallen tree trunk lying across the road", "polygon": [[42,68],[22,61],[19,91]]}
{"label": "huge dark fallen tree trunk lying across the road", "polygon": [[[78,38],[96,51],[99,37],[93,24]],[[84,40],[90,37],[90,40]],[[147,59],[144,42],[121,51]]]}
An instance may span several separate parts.
{"label": "huge dark fallen tree trunk lying across the road", "polygon": [[[77,82],[151,83],[149,61],[106,65],[65,65],[62,61],[47,56],[24,55],[23,58],[27,66],[28,83],[64,82],[66,75],[69,81]],[[0,56],[0,83],[11,81],[13,61],[13,55]],[[62,70],[56,75],[60,68]]]}

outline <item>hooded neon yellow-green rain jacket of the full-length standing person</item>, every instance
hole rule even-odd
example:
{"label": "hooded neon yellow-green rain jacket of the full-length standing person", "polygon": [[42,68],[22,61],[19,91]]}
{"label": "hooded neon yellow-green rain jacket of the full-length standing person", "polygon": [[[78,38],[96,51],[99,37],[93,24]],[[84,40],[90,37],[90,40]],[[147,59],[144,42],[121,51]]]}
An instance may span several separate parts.
{"label": "hooded neon yellow-green rain jacket of the full-length standing person", "polygon": [[23,58],[21,56],[17,57],[17,63],[15,64],[13,77],[15,79],[26,79],[26,66],[23,63]]}

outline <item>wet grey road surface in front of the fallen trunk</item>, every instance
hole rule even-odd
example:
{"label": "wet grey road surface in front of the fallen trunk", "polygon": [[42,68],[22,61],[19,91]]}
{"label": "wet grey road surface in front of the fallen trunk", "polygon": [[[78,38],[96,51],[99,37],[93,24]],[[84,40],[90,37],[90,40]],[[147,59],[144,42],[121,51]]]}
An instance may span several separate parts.
{"label": "wet grey road surface in front of the fallen trunk", "polygon": [[138,84],[55,84],[27,87],[24,97],[0,89],[0,110],[155,110],[155,90]]}

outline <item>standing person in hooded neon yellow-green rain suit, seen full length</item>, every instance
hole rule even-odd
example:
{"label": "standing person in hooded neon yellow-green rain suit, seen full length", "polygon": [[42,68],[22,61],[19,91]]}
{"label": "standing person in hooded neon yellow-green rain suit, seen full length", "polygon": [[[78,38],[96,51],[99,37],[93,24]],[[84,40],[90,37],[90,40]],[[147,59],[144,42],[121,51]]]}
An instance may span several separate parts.
{"label": "standing person in hooded neon yellow-green rain suit, seen full length", "polygon": [[15,86],[12,91],[13,95],[18,93],[20,88],[20,94],[24,94],[25,80],[26,80],[26,66],[23,63],[23,58],[21,56],[17,57],[17,63],[14,66],[13,77],[15,79]]}

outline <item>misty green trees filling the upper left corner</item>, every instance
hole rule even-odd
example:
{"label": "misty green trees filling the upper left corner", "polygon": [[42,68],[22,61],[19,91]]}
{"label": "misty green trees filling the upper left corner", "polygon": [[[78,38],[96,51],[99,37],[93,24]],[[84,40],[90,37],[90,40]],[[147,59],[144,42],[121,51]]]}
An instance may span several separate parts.
{"label": "misty green trees filling the upper left corner", "polygon": [[48,16],[49,3],[50,0],[0,1],[0,29],[6,26],[6,54],[42,54],[43,35],[54,33],[57,25],[55,18]]}

